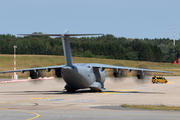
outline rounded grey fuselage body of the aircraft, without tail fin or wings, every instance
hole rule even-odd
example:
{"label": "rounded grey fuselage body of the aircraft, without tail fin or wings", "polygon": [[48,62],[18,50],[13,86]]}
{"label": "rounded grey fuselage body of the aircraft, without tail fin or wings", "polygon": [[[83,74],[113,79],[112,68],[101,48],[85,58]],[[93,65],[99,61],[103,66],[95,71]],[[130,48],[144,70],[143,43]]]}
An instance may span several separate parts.
{"label": "rounded grey fuselage body of the aircraft, without tail fin or wings", "polygon": [[101,90],[106,78],[105,71],[101,68],[93,68],[91,65],[78,63],[62,67],[61,75],[67,83],[65,89],[91,88],[92,90]]}

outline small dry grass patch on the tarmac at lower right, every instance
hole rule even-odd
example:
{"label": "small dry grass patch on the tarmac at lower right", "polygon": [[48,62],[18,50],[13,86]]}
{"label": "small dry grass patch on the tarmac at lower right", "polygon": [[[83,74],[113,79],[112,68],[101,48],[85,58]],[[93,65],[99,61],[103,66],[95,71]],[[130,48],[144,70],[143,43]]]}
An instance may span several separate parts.
{"label": "small dry grass patch on the tarmac at lower right", "polygon": [[160,104],[160,105],[128,105],[128,104],[122,104],[121,107],[134,108],[134,109],[147,109],[147,110],[180,111],[179,106],[165,106],[163,104]]}

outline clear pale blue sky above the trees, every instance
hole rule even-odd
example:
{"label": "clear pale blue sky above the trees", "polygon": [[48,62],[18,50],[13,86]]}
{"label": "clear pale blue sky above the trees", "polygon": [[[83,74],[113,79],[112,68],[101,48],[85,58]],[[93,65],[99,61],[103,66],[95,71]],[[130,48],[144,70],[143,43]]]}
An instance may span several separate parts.
{"label": "clear pale blue sky above the trees", "polygon": [[180,0],[1,0],[0,34],[103,33],[180,38]]}

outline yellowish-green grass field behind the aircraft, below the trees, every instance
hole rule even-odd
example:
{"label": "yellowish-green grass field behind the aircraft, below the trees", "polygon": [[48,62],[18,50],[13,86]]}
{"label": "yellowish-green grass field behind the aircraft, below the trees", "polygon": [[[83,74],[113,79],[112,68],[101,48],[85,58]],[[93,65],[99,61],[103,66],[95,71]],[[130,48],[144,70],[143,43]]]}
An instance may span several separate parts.
{"label": "yellowish-green grass field behind the aircraft, below the trees", "polygon": [[[117,65],[125,67],[136,67],[144,66],[153,70],[161,71],[172,71],[174,74],[168,73],[153,73],[153,75],[163,76],[180,76],[180,65],[160,62],[147,62],[147,61],[131,61],[131,60],[115,60],[115,59],[100,59],[100,58],[85,58],[85,57],[72,57],[73,63],[101,63],[108,65]],[[55,66],[65,64],[64,56],[57,55],[17,55],[16,56],[16,69],[26,69],[32,66]],[[14,69],[14,55],[0,54],[0,71],[9,71]],[[113,70],[106,69],[106,76],[113,76]],[[128,73],[127,76],[131,76],[134,72]],[[27,78],[28,72],[22,74],[21,72],[16,73],[19,78]],[[54,71],[47,73],[46,76],[53,76]],[[14,73],[0,74],[1,78],[11,78]]]}

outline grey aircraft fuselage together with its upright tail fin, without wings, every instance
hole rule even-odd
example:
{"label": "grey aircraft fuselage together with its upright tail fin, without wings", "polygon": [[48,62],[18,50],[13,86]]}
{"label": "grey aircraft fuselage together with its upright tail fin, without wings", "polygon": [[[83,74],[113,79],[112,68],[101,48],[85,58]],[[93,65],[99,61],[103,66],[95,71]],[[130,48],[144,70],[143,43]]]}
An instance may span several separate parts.
{"label": "grey aircraft fuselage together with its upright tail fin, without wings", "polygon": [[69,31],[66,30],[61,34],[66,63],[66,66],[61,68],[61,76],[67,83],[65,89],[67,91],[74,91],[77,89],[91,88],[92,90],[101,91],[104,88],[105,71],[92,67],[92,64],[72,63],[68,33]]}

